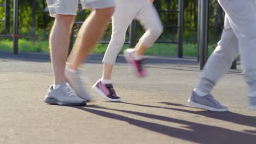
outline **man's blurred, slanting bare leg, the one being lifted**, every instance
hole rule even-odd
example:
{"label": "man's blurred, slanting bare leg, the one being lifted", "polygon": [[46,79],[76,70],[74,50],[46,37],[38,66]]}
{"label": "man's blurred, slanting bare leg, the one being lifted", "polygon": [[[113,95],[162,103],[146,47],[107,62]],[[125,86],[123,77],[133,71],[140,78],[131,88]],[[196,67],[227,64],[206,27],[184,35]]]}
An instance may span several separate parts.
{"label": "man's blurred, slanting bare leg, the one being lifted", "polygon": [[101,38],[103,30],[113,13],[114,8],[92,11],[78,33],[78,38],[74,44],[74,49],[78,49],[78,51],[72,54],[69,68],[77,69],[84,59],[87,58],[93,46]]}

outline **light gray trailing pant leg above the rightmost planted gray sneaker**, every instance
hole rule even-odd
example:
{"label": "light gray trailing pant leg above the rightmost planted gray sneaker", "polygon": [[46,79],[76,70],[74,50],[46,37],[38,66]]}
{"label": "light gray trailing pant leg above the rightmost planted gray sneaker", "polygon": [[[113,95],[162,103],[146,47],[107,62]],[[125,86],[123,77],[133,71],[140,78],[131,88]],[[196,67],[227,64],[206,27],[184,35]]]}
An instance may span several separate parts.
{"label": "light gray trailing pant leg above the rightmost planted gray sneaker", "polygon": [[210,93],[237,56],[238,41],[226,15],[222,38],[203,68],[196,89],[203,93]]}

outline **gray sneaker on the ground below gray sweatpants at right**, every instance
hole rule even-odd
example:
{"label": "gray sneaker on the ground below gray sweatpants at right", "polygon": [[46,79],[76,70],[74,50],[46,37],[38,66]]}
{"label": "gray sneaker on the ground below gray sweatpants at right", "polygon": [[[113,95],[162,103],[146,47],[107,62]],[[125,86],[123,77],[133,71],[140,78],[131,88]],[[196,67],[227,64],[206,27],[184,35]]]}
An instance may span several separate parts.
{"label": "gray sneaker on the ground below gray sweatpants at right", "polygon": [[220,104],[217,100],[213,98],[213,96],[210,93],[205,95],[204,97],[200,97],[193,91],[188,100],[188,103],[190,105],[199,107],[201,109],[206,109],[209,111],[228,111],[228,106]]}

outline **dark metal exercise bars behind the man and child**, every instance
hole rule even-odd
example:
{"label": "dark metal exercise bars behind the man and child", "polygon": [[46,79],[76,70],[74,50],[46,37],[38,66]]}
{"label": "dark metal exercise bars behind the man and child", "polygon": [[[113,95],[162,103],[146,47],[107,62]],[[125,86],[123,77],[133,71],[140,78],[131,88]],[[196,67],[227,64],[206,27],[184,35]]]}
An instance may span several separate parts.
{"label": "dark metal exercise bars behind the man and child", "polygon": [[[184,0],[178,0],[178,10],[173,9],[158,9],[159,13],[177,13],[178,14],[178,23],[177,26],[169,26],[164,25],[164,28],[176,28],[178,32],[178,41],[174,40],[165,40],[165,41],[156,41],[156,43],[165,43],[165,44],[178,44],[178,53],[177,56],[179,58],[183,57],[183,29],[184,29]],[[74,22],[74,26],[76,25],[82,25],[83,22]],[[111,23],[110,23],[111,24]],[[74,26],[72,28],[72,34],[71,34],[71,44],[69,46],[69,52],[71,52],[73,43],[74,43]],[[134,47],[137,43],[136,39],[136,28],[138,25],[136,24],[136,21],[133,20],[130,25],[130,35],[129,35],[129,41],[125,41],[125,44],[130,44],[130,47]],[[108,44],[109,41],[98,41],[100,44]]]}

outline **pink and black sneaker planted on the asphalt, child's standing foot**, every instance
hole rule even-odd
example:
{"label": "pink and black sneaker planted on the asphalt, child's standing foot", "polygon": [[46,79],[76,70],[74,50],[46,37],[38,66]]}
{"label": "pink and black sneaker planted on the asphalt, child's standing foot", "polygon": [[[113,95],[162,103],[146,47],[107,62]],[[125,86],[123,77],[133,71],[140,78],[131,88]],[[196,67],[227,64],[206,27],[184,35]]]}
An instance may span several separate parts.
{"label": "pink and black sneaker planted on the asphalt, child's standing foot", "polygon": [[94,86],[92,86],[92,90],[109,101],[120,101],[120,97],[115,93],[114,87],[111,83],[104,85],[101,80],[98,80]]}

